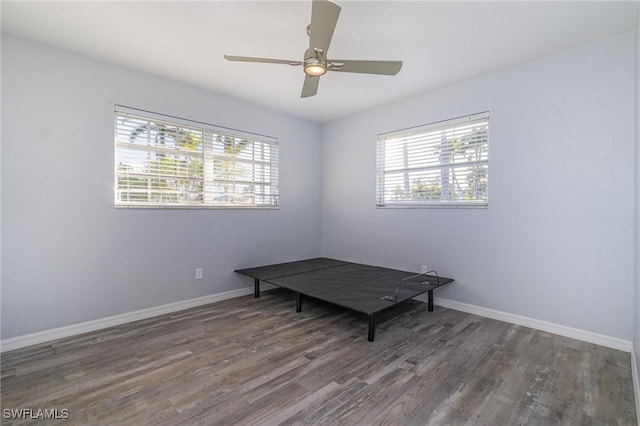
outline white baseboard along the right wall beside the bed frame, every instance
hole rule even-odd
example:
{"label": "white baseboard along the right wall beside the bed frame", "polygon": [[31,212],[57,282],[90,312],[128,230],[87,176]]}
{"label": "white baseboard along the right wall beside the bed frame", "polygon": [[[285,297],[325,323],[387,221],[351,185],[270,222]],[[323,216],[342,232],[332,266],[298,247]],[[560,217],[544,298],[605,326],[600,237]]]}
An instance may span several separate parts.
{"label": "white baseboard along the right wall beside the bed frame", "polygon": [[[426,294],[416,297],[421,301],[426,301]],[[606,346],[625,352],[631,352],[633,343],[630,340],[619,339],[617,337],[606,336],[604,334],[592,333],[578,328],[567,327],[552,322],[542,321],[535,318],[529,318],[521,315],[511,314],[508,312],[496,311],[494,309],[483,308],[481,306],[470,305],[467,303],[456,302],[454,300],[434,298],[434,304],[445,308],[455,309],[456,311],[467,312],[470,314],[480,315],[499,321],[510,322],[512,324],[522,325],[536,330],[546,331],[548,333],[558,334],[560,336],[571,337],[572,339],[582,340],[584,342],[594,343],[596,345]]]}

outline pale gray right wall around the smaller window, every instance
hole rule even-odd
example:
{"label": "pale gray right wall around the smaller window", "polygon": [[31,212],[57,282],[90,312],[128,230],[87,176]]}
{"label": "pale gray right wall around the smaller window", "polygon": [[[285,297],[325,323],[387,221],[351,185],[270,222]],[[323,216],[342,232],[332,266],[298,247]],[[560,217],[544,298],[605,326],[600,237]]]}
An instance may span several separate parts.
{"label": "pale gray right wall around the smaller window", "polygon": [[[429,72],[429,70],[425,70]],[[491,111],[488,209],[376,209],[376,134]],[[323,129],[322,253],[456,282],[436,296],[633,339],[634,35]]]}

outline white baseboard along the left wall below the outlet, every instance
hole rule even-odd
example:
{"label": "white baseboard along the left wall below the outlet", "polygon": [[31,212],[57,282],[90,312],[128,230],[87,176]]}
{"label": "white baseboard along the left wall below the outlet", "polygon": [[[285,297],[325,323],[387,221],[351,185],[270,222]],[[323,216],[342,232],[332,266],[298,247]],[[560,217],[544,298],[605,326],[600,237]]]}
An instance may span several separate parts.
{"label": "white baseboard along the left wall below the outlet", "polygon": [[196,306],[208,305],[209,303],[221,300],[232,299],[234,297],[246,296],[253,293],[253,287],[245,287],[237,290],[225,291],[222,293],[210,294],[196,297],[195,299],[181,300],[180,302],[169,303],[167,305],[155,306],[153,308],[141,309],[139,311],[127,312],[92,321],[72,324],[51,330],[39,331],[37,333],[25,334],[23,336],[11,337],[0,341],[0,352],[11,351],[24,348],[26,346],[37,345],[63,337],[75,336],[82,333],[100,330],[107,327],[125,324],[132,321],[151,318],[158,315],[169,314],[171,312],[183,311]]}

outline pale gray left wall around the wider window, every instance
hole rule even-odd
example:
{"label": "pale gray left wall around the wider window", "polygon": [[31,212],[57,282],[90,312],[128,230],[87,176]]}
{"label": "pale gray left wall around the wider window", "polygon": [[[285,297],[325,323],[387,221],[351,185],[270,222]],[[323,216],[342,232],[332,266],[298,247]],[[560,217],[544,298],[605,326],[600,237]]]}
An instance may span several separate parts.
{"label": "pale gray left wall around the wider window", "polygon": [[[279,137],[281,208],[115,209],[113,103]],[[317,124],[3,34],[2,338],[249,286],[234,268],[319,255],[320,142]]]}

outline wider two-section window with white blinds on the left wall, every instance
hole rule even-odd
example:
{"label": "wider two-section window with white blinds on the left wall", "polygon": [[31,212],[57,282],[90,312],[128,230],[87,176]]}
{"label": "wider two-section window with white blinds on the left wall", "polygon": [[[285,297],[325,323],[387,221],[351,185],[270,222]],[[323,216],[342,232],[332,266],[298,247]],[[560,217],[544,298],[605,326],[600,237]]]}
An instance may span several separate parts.
{"label": "wider two-section window with white blinds on the left wall", "polygon": [[125,107],[115,134],[117,207],[278,206],[276,139]]}

